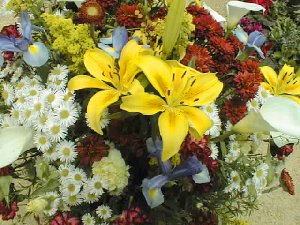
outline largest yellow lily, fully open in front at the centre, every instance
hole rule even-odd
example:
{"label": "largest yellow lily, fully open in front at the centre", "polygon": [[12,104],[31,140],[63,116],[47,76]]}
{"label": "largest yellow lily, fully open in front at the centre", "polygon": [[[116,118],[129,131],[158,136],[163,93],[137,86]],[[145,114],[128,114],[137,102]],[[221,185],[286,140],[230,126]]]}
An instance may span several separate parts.
{"label": "largest yellow lily, fully open in front at the centre", "polygon": [[153,115],[158,119],[163,141],[162,160],[175,155],[188,131],[200,138],[212,126],[211,119],[194,106],[207,105],[220,94],[223,84],[213,73],[200,73],[177,61],[163,61],[155,56],[136,60],[161,97],[137,93],[122,98],[121,109]]}

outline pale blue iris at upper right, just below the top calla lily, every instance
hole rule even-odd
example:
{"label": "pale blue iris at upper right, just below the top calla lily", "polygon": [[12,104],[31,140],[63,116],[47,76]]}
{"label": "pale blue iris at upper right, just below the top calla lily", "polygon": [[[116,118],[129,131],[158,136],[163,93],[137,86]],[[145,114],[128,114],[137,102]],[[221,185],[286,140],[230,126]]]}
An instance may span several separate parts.
{"label": "pale blue iris at upper right, just below the top calla lily", "polygon": [[261,58],[265,58],[261,46],[266,42],[267,38],[263,33],[256,30],[248,35],[241,27],[238,27],[235,29],[234,34],[240,42],[249,48],[254,48]]}

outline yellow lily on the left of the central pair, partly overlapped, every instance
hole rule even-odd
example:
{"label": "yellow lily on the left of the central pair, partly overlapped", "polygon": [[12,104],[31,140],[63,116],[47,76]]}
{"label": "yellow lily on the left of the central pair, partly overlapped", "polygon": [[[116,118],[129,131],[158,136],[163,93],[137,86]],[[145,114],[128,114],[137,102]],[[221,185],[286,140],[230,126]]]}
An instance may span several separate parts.
{"label": "yellow lily on the left of the central pair, partly overlapped", "polygon": [[84,55],[84,65],[93,76],[77,75],[70,79],[68,89],[71,91],[85,88],[101,89],[93,95],[87,106],[87,119],[90,127],[103,134],[100,118],[105,108],[117,102],[121,95],[143,91],[142,85],[134,79],[140,71],[133,64],[139,54],[150,54],[150,50],[129,41],[122,49],[119,66],[112,56],[101,49],[88,50]]}

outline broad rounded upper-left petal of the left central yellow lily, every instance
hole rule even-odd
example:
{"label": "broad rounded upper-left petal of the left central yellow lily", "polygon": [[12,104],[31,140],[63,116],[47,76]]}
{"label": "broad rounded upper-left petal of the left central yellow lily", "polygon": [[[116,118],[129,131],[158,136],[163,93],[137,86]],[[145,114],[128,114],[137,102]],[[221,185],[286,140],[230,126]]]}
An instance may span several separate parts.
{"label": "broad rounded upper-left petal of the left central yellow lily", "polygon": [[84,65],[89,73],[99,80],[112,81],[114,58],[103,50],[87,50],[84,54]]}

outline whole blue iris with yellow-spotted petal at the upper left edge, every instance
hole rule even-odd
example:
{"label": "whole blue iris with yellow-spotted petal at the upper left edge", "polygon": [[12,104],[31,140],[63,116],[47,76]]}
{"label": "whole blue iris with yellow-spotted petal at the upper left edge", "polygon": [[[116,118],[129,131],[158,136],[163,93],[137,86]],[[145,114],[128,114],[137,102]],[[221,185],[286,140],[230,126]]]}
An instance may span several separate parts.
{"label": "whole blue iris with yellow-spotted petal at the upper left edge", "polygon": [[40,42],[32,42],[32,24],[27,12],[21,12],[22,38],[7,37],[0,34],[0,51],[23,53],[24,61],[30,66],[42,66],[49,59],[46,46]]}

